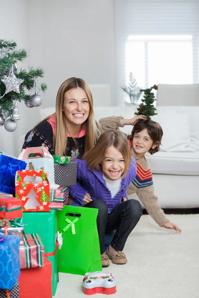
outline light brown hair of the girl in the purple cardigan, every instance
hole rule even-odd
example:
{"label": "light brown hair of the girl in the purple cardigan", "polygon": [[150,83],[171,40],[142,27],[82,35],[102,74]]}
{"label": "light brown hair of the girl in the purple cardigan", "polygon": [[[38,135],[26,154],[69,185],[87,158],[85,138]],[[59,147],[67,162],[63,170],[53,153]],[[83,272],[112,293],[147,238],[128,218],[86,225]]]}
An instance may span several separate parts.
{"label": "light brown hair of the girl in the purple cardigan", "polygon": [[122,175],[122,178],[124,178],[131,162],[131,153],[127,138],[122,132],[106,131],[102,133],[94,148],[84,155],[84,159],[86,159],[90,169],[101,171],[100,163],[104,158],[105,150],[110,146],[114,146],[124,158],[125,168]]}

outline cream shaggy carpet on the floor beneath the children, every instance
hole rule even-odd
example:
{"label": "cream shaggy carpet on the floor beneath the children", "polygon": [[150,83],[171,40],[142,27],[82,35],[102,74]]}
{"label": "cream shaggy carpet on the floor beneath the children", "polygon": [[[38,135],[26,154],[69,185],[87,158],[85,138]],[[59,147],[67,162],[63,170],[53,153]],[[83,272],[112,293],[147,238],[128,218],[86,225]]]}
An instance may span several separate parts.
{"label": "cream shaggy carpet on the floor beneath the children", "polygon": [[[168,215],[182,232],[159,227],[150,216],[142,216],[128,237],[126,265],[111,265],[117,293],[91,297],[199,298],[199,215]],[[54,298],[89,297],[82,291],[83,277],[59,274]]]}

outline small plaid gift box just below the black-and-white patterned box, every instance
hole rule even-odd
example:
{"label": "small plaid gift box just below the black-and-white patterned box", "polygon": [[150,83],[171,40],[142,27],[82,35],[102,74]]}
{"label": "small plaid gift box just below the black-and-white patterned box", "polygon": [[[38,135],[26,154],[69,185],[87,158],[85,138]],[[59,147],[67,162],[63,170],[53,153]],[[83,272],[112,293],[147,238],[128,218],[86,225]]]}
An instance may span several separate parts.
{"label": "small plaid gift box just below the black-and-white patterned box", "polygon": [[50,208],[63,209],[68,202],[69,187],[59,187],[50,190]]}

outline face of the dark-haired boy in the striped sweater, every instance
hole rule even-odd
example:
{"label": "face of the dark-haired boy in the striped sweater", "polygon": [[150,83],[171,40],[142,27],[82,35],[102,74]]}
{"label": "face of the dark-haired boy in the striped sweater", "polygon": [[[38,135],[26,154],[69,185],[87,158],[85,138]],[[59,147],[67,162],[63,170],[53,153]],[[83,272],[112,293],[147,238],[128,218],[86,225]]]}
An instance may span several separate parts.
{"label": "face of the dark-haired boy in the striped sweater", "polygon": [[149,137],[147,129],[143,129],[139,133],[135,133],[132,140],[133,150],[139,157],[144,156],[149,149],[156,148],[157,145],[153,145],[153,140]]}

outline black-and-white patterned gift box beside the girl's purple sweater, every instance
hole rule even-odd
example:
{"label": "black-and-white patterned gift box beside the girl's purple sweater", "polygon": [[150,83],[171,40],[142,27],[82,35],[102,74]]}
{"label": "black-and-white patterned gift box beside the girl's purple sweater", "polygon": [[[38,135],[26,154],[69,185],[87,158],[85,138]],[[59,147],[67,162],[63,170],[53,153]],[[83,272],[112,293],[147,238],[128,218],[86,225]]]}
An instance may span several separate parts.
{"label": "black-and-white patterned gift box beside the girl's purple sweater", "polygon": [[69,164],[55,163],[55,184],[60,186],[76,185],[77,182],[77,162],[71,161]]}

